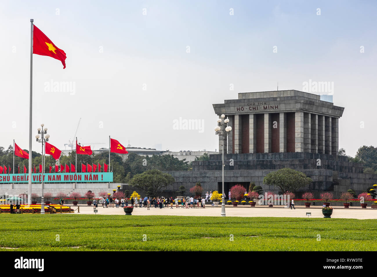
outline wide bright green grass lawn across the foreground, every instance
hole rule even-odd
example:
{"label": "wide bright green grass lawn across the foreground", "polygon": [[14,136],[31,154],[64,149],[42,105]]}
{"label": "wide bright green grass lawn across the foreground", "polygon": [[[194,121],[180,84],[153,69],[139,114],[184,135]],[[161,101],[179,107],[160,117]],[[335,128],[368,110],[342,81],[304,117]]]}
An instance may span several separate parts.
{"label": "wide bright green grass lawn across the foreground", "polygon": [[375,219],[1,214],[0,222],[0,246],[14,251],[377,251]]}

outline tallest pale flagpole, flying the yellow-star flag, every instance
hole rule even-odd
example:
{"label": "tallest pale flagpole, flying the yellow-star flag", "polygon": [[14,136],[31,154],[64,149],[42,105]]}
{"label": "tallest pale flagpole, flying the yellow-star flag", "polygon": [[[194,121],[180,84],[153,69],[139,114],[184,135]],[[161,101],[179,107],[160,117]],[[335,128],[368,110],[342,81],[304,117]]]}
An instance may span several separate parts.
{"label": "tallest pale flagpole, flying the yellow-star flag", "polygon": [[31,160],[32,160],[32,150],[31,150],[31,128],[32,128],[32,106],[33,106],[33,22],[34,19],[30,20],[30,100],[29,100],[29,186],[28,186],[28,205],[31,205]]}

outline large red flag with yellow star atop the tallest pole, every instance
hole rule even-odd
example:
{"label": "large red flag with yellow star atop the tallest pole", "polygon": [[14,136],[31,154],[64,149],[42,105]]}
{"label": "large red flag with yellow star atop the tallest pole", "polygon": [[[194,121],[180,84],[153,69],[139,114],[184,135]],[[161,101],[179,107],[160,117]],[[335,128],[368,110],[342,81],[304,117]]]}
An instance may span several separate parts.
{"label": "large red flag with yellow star atop the tallest pole", "polygon": [[66,68],[66,53],[59,49],[37,26],[33,29],[33,54],[49,56],[60,60]]}

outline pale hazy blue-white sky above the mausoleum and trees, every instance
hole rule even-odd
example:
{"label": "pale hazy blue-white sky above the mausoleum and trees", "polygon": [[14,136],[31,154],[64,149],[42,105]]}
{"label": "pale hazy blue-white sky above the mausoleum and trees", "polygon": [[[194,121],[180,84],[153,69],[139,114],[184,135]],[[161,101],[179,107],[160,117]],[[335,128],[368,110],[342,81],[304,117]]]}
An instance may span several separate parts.
{"label": "pale hazy blue-white sky above the mausoleum and trees", "polygon": [[[81,118],[79,141],[104,143],[95,149],[111,135],[133,147],[214,151],[213,103],[313,80],[334,82],[334,104],[345,107],[339,147],[355,155],[377,146],[376,13],[375,1],[2,0],[0,145],[28,148],[34,18],[67,67],[33,55],[33,138],[43,122],[64,149]],[[179,118],[203,128],[176,130]]]}

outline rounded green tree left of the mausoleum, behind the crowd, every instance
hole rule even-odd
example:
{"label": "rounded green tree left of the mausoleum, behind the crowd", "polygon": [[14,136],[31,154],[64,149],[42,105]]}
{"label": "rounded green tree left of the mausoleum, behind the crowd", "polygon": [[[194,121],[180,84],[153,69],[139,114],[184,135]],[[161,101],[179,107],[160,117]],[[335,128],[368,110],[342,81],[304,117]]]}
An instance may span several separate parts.
{"label": "rounded green tree left of the mausoleum, behind the crowd", "polygon": [[[168,185],[173,184],[175,179],[172,175],[162,173],[157,169],[147,170],[141,174],[136,174],[129,184],[133,187],[144,190],[146,193],[150,187],[153,188],[153,194],[158,195]],[[150,190],[152,191],[152,190]]]}

